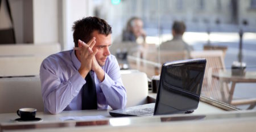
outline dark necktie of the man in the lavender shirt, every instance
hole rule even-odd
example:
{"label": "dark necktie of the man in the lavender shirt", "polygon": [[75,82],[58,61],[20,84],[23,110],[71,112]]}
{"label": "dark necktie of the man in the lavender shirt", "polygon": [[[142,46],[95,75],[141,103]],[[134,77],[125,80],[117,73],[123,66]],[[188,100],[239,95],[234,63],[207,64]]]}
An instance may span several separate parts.
{"label": "dark necktie of the man in the lavender shirt", "polygon": [[82,86],[82,109],[97,109],[97,93],[94,79],[90,72],[85,77],[86,83]]}

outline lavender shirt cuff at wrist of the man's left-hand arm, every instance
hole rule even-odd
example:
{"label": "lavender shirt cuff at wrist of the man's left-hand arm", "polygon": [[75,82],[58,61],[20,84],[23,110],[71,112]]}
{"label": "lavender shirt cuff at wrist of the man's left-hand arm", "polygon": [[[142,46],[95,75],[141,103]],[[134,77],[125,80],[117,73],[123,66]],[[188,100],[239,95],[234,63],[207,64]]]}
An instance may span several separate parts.
{"label": "lavender shirt cuff at wrist of the man's left-hand arm", "polygon": [[69,81],[71,82],[72,86],[78,91],[80,91],[82,86],[86,83],[85,79],[82,78],[78,71],[71,78],[69,78]]}

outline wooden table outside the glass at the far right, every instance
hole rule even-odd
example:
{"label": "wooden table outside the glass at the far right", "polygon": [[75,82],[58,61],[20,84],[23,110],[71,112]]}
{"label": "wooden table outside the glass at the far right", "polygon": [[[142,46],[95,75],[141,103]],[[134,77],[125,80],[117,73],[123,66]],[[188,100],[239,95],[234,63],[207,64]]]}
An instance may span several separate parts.
{"label": "wooden table outside the glass at the far right", "polygon": [[[246,71],[244,76],[232,75],[231,71],[219,71],[218,73],[213,73],[213,78],[217,78],[221,82],[221,90],[223,90],[224,83],[232,83],[229,90],[229,97],[226,100],[227,103],[232,105],[239,104],[251,104],[248,109],[252,109],[256,105],[256,99],[243,99],[243,100],[233,100],[233,94],[235,90],[236,83],[256,83],[256,72],[255,71]],[[224,96],[224,95],[222,95]]]}

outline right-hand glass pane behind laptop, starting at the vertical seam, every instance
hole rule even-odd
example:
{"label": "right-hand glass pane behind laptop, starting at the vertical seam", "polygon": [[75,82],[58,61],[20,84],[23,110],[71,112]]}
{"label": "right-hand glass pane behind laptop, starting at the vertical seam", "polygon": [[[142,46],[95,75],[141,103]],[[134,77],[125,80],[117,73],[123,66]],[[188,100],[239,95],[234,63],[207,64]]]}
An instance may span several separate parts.
{"label": "right-hand glass pane behind laptop, starting at the vertical seam", "polygon": [[[182,10],[176,10],[181,4],[176,1],[160,8],[159,62],[206,58],[201,96],[256,109],[256,22],[247,11],[249,5],[236,0],[182,2]],[[240,18],[241,13],[249,17]]]}

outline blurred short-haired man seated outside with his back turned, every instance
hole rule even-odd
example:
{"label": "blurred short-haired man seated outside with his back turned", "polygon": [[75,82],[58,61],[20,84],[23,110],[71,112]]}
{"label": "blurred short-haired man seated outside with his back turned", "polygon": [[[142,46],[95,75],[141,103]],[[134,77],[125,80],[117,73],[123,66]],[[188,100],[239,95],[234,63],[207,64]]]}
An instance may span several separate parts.
{"label": "blurred short-haired man seated outside with his back turned", "polygon": [[183,22],[175,21],[174,24],[172,24],[172,36],[174,36],[174,38],[160,44],[160,50],[171,50],[177,52],[186,50],[189,55],[193,48],[182,39],[185,30],[186,27]]}

